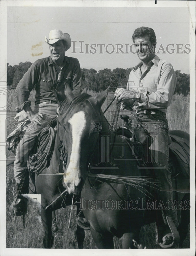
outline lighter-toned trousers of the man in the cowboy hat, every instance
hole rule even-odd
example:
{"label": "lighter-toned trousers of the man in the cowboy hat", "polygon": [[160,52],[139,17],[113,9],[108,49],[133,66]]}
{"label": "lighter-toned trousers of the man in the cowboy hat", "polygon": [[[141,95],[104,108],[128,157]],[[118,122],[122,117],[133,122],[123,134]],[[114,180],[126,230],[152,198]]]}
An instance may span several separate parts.
{"label": "lighter-toned trousers of the man in the cowboy hat", "polygon": [[[43,120],[49,120],[57,115],[57,108],[57,104],[40,103],[39,105],[35,105],[34,113],[43,114]],[[23,138],[17,146],[14,161],[14,177],[17,183],[22,182],[23,175],[27,168],[27,160],[31,154],[32,148],[34,147],[36,137],[41,129],[41,125],[32,121],[28,125]]]}

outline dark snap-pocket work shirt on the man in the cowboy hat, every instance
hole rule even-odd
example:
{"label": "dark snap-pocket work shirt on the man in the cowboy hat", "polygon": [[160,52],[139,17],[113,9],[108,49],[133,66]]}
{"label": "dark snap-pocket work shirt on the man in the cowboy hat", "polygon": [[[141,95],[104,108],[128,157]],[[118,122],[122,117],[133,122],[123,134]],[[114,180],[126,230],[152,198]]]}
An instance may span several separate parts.
{"label": "dark snap-pocket work shirt on the man in the cowboy hat", "polygon": [[81,69],[76,58],[65,56],[61,79],[58,81],[58,72],[51,57],[36,60],[17,85],[20,90],[19,104],[28,101],[29,94],[35,88],[35,104],[44,101],[56,101],[54,90],[59,101],[65,99],[64,83],[69,84],[73,94],[81,93]]}

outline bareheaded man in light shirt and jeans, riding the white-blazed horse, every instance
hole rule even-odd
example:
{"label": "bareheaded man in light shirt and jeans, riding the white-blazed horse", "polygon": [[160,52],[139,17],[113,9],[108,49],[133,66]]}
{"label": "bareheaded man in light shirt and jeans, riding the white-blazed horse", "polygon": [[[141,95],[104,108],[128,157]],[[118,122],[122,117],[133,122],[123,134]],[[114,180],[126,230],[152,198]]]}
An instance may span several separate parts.
{"label": "bareheaded man in light shirt and jeans, riding the white-blazed horse", "polygon": [[[163,223],[157,222],[159,243],[163,248],[172,245],[174,236],[179,239],[176,229],[178,221],[172,210],[171,172],[168,164],[168,123],[167,107],[170,105],[176,87],[176,75],[172,65],[159,59],[155,54],[156,36],[152,28],[137,28],[132,36],[137,56],[141,60],[130,72],[127,89],[117,88],[115,95],[122,108],[132,110],[129,125],[134,131],[142,131],[146,136],[145,167],[151,168],[159,189],[157,201],[162,200]],[[135,133],[136,140],[141,137]],[[140,134],[140,133],[139,133]],[[162,219],[157,218],[158,220]],[[174,225],[175,223],[175,225]],[[163,238],[163,239],[162,239]]]}

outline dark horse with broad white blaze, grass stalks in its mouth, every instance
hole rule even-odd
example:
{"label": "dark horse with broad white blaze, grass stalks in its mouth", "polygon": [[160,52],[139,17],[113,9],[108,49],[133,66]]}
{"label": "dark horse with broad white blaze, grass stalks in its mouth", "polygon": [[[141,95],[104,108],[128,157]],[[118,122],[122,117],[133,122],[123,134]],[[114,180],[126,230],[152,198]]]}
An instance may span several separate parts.
{"label": "dark horse with broad white blaze, grass stalks in its mouth", "polygon": [[[132,240],[139,241],[141,226],[156,222],[161,215],[160,210],[148,207],[156,201],[157,181],[146,178],[151,175],[149,169],[138,169],[141,162],[134,154],[135,144],[118,136],[103,115],[107,91],[95,98],[88,94],[75,98],[67,87],[65,94],[70,105],[58,118],[67,158],[63,186],[70,195],[80,194],[81,209],[98,248],[114,248],[113,236],[122,238],[123,248],[134,248]],[[184,239],[189,222],[189,178],[178,172],[176,177],[172,184],[178,193],[173,196],[183,200],[178,231]]]}

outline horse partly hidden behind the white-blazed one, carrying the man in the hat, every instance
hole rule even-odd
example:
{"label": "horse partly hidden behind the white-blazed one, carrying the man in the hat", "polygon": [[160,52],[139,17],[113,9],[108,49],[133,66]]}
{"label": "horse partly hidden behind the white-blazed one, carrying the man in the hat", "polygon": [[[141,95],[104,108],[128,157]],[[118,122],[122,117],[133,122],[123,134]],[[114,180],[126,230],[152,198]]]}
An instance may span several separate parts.
{"label": "horse partly hidden behind the white-blazed one, carrying the man in the hat", "polygon": [[[65,100],[61,114],[66,111],[67,101]],[[63,129],[64,130],[64,129]],[[57,124],[57,133],[55,142],[53,145],[53,153],[47,166],[41,170],[40,173],[29,172],[31,184],[35,186],[35,193],[41,194],[41,219],[44,228],[43,247],[51,248],[54,242],[54,236],[52,234],[52,223],[56,226],[56,214],[55,211],[71,206],[73,199],[67,193],[66,189],[62,185],[62,172],[63,161],[60,161],[62,154],[62,144],[60,141],[60,135],[64,133],[61,126]],[[76,214],[79,213],[77,208]],[[83,241],[85,237],[84,229],[77,225],[75,231],[75,237],[78,243],[78,248],[83,248]]]}

